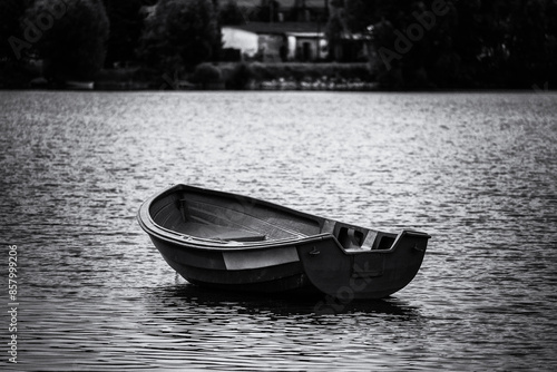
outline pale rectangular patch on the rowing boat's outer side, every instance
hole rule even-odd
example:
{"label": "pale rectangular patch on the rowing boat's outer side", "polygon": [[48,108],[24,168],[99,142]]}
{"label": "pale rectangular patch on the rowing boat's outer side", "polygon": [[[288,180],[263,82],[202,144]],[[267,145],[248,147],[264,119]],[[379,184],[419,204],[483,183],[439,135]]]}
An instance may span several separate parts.
{"label": "pale rectangular patch on the rowing boat's outer side", "polygon": [[299,262],[294,246],[262,251],[223,252],[226,270],[250,270]]}

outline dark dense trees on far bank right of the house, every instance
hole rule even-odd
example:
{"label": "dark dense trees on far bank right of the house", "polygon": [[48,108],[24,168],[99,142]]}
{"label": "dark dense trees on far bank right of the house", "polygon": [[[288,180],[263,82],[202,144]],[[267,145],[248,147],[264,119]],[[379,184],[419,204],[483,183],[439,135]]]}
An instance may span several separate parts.
{"label": "dark dense trees on far bank right of the house", "polygon": [[375,74],[385,87],[557,82],[557,1],[333,0],[332,6],[344,31],[371,33]]}

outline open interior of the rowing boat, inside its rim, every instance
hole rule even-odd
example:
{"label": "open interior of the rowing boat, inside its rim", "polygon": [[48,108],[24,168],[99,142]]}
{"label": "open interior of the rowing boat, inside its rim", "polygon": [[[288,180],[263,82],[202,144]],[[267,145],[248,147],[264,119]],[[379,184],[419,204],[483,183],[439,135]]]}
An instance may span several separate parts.
{"label": "open interior of the rowing boat, inside its rim", "polygon": [[265,242],[330,233],[346,251],[388,249],[397,235],[312,216],[278,205],[197,188],[176,189],[149,209],[165,229],[221,242]]}

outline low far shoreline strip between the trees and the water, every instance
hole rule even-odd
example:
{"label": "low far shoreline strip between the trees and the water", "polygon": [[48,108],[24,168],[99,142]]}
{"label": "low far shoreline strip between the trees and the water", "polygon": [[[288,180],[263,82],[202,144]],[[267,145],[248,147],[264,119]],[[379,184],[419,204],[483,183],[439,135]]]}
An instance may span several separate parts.
{"label": "low far shoreline strip between the trees and the water", "polygon": [[[6,72],[6,71],[4,71]],[[16,78],[0,80],[0,90],[92,90],[92,91],[555,91],[549,84],[530,87],[482,86],[460,87],[403,86],[385,87],[371,71],[370,65],[336,62],[205,62],[194,70],[165,72],[141,66],[102,69],[89,81],[48,81],[41,69],[28,67]]]}

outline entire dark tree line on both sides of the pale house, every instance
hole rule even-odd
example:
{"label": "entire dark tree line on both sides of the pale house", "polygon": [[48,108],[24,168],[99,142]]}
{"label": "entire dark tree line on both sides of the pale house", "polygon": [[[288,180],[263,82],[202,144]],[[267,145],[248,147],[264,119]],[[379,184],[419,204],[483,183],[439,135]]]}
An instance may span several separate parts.
{"label": "entire dark tree line on both sides of the pale house", "polygon": [[[222,2],[222,3],[221,3]],[[43,60],[51,80],[134,65],[190,71],[222,56],[222,25],[276,21],[280,3],[226,0],[0,0],[0,84]],[[156,4],[156,7],[155,7]],[[330,50],[363,39],[384,88],[557,84],[555,0],[325,0]],[[325,14],[325,16],[323,16]],[[330,55],[334,59],[334,55]],[[9,86],[9,84],[8,84]]]}

